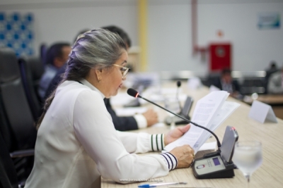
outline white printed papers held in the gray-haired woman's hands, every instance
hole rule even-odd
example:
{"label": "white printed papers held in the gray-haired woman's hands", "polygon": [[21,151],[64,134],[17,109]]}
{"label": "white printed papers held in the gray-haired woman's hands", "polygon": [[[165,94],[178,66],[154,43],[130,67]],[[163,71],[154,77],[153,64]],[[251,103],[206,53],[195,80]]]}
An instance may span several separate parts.
{"label": "white printed papers held in the gray-haired woman's hands", "polygon": [[[207,94],[207,96],[204,96],[202,99],[197,101],[191,121],[198,125],[202,125],[203,127],[207,127],[208,129],[210,127],[214,127],[215,130],[216,127],[218,127],[228,117],[228,115],[236,109],[237,105],[227,104],[224,108],[227,108],[227,106],[234,106],[231,108],[230,113],[227,110],[226,113],[224,113],[225,111],[220,111],[228,96],[229,93],[225,91],[211,92]],[[224,117],[221,118],[221,115],[224,115]],[[215,122],[214,117],[216,117]],[[201,137],[203,132],[205,137]],[[209,134],[206,132],[206,130],[191,124],[190,130],[186,132],[183,137],[180,137],[180,139],[177,139],[175,142],[168,144],[165,149],[166,151],[171,151],[175,148],[175,146],[189,144],[196,153],[200,149],[200,146],[202,146],[209,137]]]}

